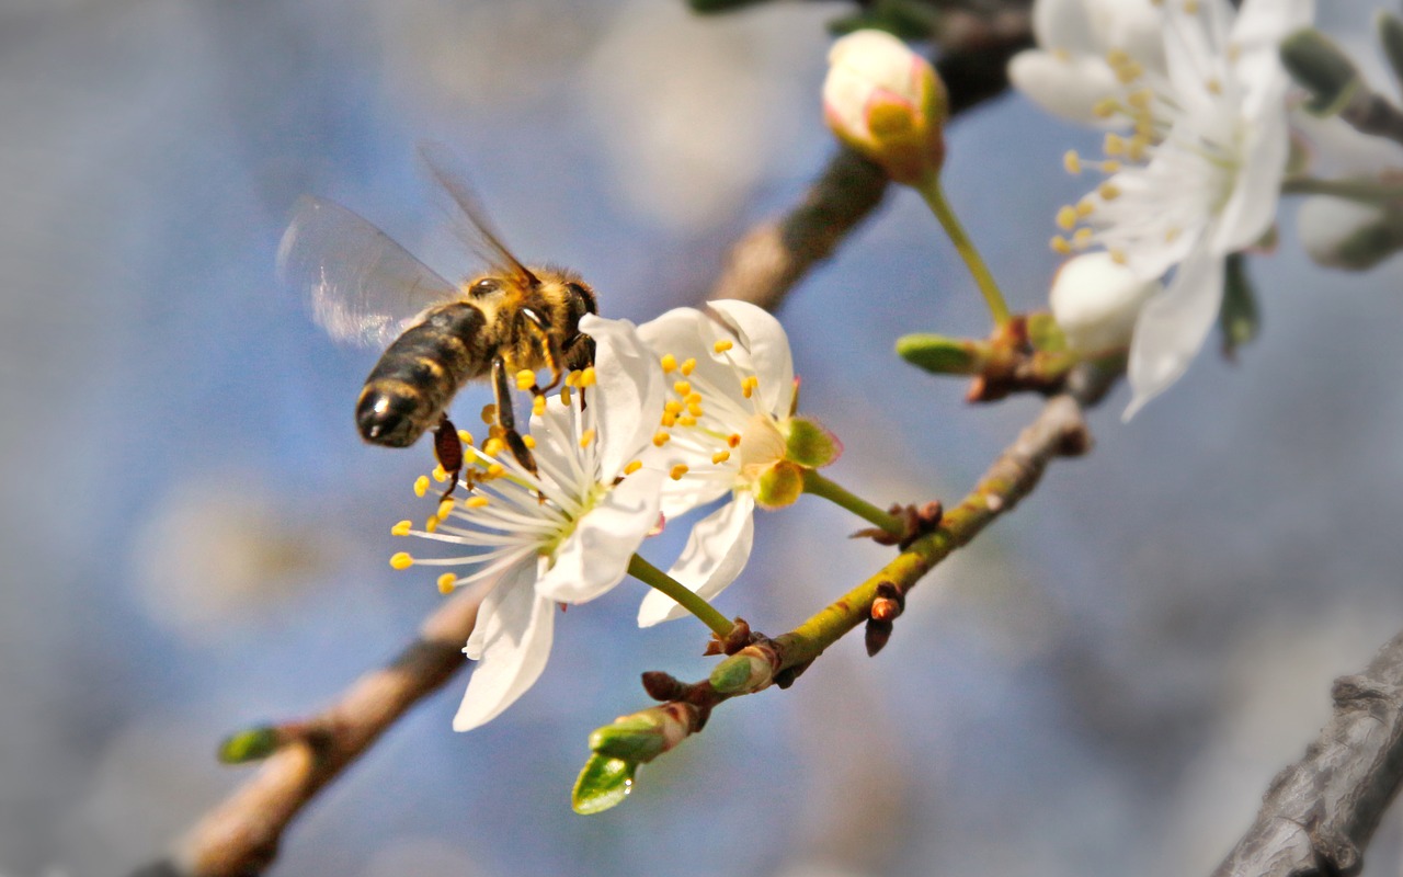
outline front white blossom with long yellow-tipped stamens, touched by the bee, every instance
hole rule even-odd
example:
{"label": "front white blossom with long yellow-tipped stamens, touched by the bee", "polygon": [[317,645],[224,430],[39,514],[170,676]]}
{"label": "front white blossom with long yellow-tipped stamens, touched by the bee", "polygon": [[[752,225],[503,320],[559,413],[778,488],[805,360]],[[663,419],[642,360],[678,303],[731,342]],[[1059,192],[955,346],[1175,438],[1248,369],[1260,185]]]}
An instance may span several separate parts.
{"label": "front white blossom with long yellow-tipped stamens, touched by the bee", "polygon": [[[657,526],[662,473],[644,467],[662,408],[662,373],[652,351],[622,320],[586,316],[579,328],[596,345],[592,369],[577,372],[532,417],[528,471],[499,439],[469,448],[467,497],[445,501],[414,535],[460,546],[460,557],[396,554],[391,565],[449,567],[439,588],[490,587],[463,648],[477,661],[453,718],[469,731],[511,706],[540,676],[550,655],[557,603],[582,603],[617,585]],[[424,493],[425,484],[417,491]]]}

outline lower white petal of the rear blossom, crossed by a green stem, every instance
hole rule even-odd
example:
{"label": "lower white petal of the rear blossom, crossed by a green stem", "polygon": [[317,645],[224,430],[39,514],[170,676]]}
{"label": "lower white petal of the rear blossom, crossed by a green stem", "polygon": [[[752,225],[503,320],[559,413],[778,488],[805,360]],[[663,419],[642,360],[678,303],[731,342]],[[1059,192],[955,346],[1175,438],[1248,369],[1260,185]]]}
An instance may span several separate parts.
{"label": "lower white petal of the rear blossom, crossed by a green stem", "polygon": [[[725,589],[745,568],[755,542],[755,498],[738,493],[735,498],[692,528],[686,547],[668,575],[710,601]],[[638,627],[651,627],[687,615],[676,601],[661,591],[648,591],[638,606]]]}

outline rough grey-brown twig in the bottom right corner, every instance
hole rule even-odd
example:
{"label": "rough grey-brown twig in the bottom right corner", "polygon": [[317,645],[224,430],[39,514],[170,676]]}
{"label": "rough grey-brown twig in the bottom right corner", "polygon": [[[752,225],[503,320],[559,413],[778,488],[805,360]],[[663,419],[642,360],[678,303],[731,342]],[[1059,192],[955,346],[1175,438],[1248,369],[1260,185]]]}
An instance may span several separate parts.
{"label": "rough grey-brown twig in the bottom right corner", "polygon": [[1330,692],[1334,714],[1271,780],[1214,877],[1350,877],[1403,782],[1403,633]]}

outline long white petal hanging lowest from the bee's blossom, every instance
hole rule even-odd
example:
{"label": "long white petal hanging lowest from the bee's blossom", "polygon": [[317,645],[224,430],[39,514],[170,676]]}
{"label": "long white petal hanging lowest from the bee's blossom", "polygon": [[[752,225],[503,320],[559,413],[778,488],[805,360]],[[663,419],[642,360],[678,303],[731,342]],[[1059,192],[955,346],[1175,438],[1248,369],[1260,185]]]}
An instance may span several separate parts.
{"label": "long white petal hanging lowest from the bee's blossom", "polygon": [[535,685],[550,657],[556,605],[532,588],[498,587],[495,594],[501,595],[495,610],[478,617],[485,626],[481,660],[453,717],[455,731],[471,731],[495,718]]}

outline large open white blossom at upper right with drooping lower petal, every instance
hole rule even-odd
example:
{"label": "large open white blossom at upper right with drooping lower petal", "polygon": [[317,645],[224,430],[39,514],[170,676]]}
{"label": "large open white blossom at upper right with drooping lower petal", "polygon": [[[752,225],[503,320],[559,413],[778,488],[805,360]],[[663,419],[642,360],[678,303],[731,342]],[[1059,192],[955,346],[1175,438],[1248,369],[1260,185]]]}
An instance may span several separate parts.
{"label": "large open white blossom at upper right with drooping lower petal", "polygon": [[1163,10],[1166,87],[1131,93],[1143,115],[1129,138],[1107,136],[1108,178],[1058,219],[1083,226],[1058,239],[1063,251],[1103,247],[1145,279],[1173,269],[1135,324],[1127,418],[1184,373],[1218,317],[1228,255],[1273,225],[1289,150],[1277,46],[1310,20],[1312,1]]}

